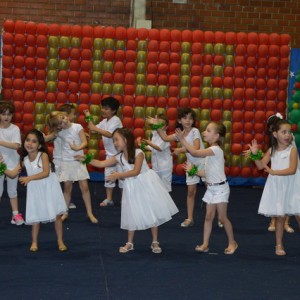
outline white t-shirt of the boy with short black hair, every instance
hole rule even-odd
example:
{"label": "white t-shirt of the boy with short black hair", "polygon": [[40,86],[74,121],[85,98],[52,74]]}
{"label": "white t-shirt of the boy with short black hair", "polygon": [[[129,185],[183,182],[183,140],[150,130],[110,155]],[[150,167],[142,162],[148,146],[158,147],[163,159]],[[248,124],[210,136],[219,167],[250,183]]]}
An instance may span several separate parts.
{"label": "white t-shirt of the boy with short black hair", "polygon": [[[117,128],[122,128],[122,122],[119,117],[112,116],[109,120],[104,119],[98,125],[97,128],[113,133]],[[106,152],[106,158],[116,155],[118,152],[114,146],[113,139],[102,136],[103,146]]]}

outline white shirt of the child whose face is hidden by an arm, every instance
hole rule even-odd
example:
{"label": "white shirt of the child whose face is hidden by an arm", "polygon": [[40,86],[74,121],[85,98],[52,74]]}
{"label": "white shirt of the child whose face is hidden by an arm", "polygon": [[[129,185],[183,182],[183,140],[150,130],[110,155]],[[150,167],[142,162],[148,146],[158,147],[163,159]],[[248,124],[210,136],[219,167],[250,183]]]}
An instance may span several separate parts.
{"label": "white shirt of the child whose face is hidden by an arm", "polygon": [[151,146],[149,146],[152,152],[152,156],[151,156],[152,169],[154,171],[164,171],[164,170],[172,169],[173,159],[170,150],[170,143],[163,141],[156,130],[153,131],[152,134],[153,136],[151,142],[157,145],[162,150],[162,151],[158,151],[152,148]]}

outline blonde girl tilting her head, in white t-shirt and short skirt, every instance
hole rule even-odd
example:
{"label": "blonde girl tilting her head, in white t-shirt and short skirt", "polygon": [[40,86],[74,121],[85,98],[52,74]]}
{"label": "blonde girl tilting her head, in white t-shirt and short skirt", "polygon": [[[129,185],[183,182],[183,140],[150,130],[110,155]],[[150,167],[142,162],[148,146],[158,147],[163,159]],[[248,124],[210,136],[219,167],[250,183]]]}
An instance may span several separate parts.
{"label": "blonde girl tilting her head, in white t-shirt and short skirt", "polygon": [[[75,155],[83,154],[87,146],[83,127],[77,123],[71,123],[65,112],[54,111],[47,117],[50,134],[57,136],[61,141],[61,171],[59,181],[64,183],[64,197],[67,207],[70,205],[73,182],[79,182],[79,188],[85,204],[87,216],[92,223],[98,223],[92,212],[91,194],[88,186],[89,173],[85,165],[74,159]],[[55,144],[54,144],[55,146]],[[68,213],[62,216],[62,220],[68,218]]]}

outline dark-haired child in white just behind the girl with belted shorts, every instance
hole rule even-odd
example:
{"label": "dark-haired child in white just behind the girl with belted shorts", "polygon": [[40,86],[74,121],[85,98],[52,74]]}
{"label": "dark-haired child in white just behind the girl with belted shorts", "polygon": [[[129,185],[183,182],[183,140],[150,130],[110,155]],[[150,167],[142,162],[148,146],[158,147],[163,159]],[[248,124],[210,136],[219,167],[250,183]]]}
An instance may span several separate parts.
{"label": "dark-haired child in white just behind the girl with belted shorts", "polygon": [[[152,125],[159,125],[158,120],[155,118],[148,118],[148,122]],[[204,149],[204,144],[198,128],[194,127],[196,122],[196,114],[191,108],[182,108],[178,110],[177,127],[184,130],[186,141],[194,149]],[[178,141],[175,134],[167,135],[162,128],[157,128],[157,132],[165,142]],[[187,152],[186,147],[175,148],[173,154],[179,155],[185,153],[187,161],[197,165],[199,169],[204,167],[203,158],[193,157]],[[197,184],[200,182],[199,176],[186,176],[186,184],[188,186],[187,192],[187,219],[185,219],[180,225],[181,227],[189,227],[194,225],[194,207],[195,196],[197,192]]]}

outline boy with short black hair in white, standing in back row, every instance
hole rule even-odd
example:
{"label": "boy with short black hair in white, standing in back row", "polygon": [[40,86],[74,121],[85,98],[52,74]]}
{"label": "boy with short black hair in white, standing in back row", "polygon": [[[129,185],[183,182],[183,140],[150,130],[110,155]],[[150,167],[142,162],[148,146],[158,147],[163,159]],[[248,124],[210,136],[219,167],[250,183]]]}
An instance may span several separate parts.
{"label": "boy with short black hair in white, standing in back row", "polygon": [[[92,131],[98,132],[102,135],[103,145],[106,152],[106,159],[116,155],[118,152],[114,146],[112,133],[117,128],[122,128],[122,122],[120,118],[117,116],[117,112],[119,109],[120,103],[114,97],[108,97],[102,100],[101,102],[101,114],[103,120],[94,125],[92,121],[89,121],[88,128]],[[88,110],[84,111],[86,117],[90,116],[90,112]],[[111,174],[112,172],[120,172],[120,167],[113,166],[107,167],[104,170],[105,178]],[[116,186],[115,182],[105,180],[104,186],[106,188],[106,199],[104,199],[100,206],[110,206],[114,205],[112,196],[113,196],[113,189]],[[119,188],[123,187],[122,180],[119,180]]]}

